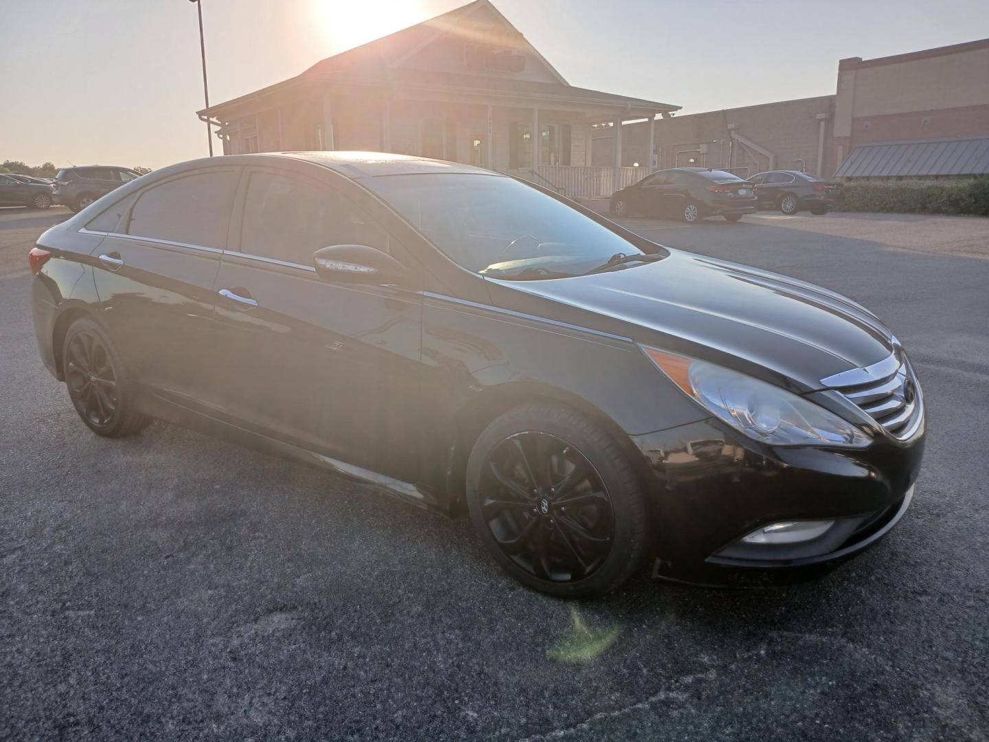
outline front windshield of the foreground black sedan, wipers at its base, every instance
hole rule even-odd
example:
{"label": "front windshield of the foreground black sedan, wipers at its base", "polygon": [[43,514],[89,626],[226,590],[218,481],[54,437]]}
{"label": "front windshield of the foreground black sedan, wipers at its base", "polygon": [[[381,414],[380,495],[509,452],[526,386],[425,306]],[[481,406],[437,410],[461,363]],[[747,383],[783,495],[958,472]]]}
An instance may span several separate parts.
{"label": "front windshield of the foreground black sedan, wipers at its base", "polygon": [[563,278],[619,254],[645,254],[624,237],[512,178],[423,173],[382,175],[365,183],[452,260],[484,276]]}

